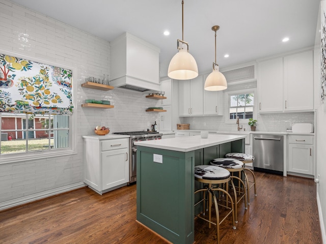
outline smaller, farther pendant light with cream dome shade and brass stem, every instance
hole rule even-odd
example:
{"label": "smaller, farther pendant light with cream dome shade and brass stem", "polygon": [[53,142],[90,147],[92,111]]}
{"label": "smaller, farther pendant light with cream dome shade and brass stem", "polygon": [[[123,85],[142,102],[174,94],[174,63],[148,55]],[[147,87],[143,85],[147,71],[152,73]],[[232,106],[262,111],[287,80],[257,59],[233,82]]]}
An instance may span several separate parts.
{"label": "smaller, farther pendant light with cream dome shade and brass stem", "polygon": [[215,62],[213,62],[213,72],[205,80],[205,90],[225,90],[228,88],[225,76],[219,71],[219,65],[216,64],[216,32],[220,29],[219,25],[214,25],[212,31],[215,32]]}

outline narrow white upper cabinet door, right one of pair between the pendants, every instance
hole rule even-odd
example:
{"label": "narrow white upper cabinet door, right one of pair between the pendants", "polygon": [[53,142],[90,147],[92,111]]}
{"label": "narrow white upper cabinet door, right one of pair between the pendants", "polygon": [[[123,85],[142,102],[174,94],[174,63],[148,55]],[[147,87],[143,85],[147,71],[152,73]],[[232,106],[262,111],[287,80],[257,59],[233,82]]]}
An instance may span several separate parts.
{"label": "narrow white upper cabinet door, right one of pair between the pendants", "polygon": [[200,75],[190,81],[191,115],[203,115],[203,76]]}

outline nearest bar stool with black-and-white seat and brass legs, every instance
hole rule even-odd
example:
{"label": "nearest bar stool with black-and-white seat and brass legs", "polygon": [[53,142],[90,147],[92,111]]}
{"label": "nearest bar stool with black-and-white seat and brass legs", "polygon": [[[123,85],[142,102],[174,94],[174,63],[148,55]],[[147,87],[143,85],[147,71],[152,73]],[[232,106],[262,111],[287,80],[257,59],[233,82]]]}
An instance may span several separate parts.
{"label": "nearest bar stool with black-and-white seat and brass legs", "polygon": [[[202,203],[203,204],[203,212],[202,215],[205,215],[205,206],[208,203],[208,220],[206,218],[203,218],[199,214],[197,215],[195,213],[195,217],[198,217],[202,220],[205,220],[208,222],[208,228],[211,227],[211,224],[216,226],[216,236],[218,240],[218,244],[220,244],[220,224],[232,213],[232,224],[233,229],[236,229],[235,227],[235,214],[234,214],[234,207],[233,207],[233,200],[231,198],[231,195],[222,188],[214,188],[213,185],[215,184],[224,184],[229,182],[231,179],[230,172],[226,169],[211,166],[211,165],[198,165],[195,167],[195,180],[202,182],[204,184],[208,184],[207,187],[199,189],[195,191],[195,195],[197,193],[203,192],[203,197],[200,201],[198,201],[196,205]],[[233,184],[233,183],[232,183]],[[216,196],[214,194],[214,191],[222,192],[223,194],[226,194],[231,201],[231,207],[228,208],[230,211],[227,212],[226,216],[223,218],[223,220],[220,221],[220,215],[219,215],[219,207],[218,200],[216,199]],[[207,193],[207,198],[205,198],[205,193]],[[215,207],[215,214],[216,214],[216,222],[211,221],[211,206],[212,206],[212,197],[214,201],[214,207]]]}

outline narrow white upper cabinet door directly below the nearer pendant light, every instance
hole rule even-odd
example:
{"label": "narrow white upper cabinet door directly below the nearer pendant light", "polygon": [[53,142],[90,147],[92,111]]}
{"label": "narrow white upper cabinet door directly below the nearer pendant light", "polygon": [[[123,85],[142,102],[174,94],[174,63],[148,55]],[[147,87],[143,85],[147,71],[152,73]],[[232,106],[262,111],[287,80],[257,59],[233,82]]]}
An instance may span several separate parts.
{"label": "narrow white upper cabinet door directly below the nearer pendant light", "polygon": [[178,80],[179,85],[179,115],[190,115],[190,80]]}

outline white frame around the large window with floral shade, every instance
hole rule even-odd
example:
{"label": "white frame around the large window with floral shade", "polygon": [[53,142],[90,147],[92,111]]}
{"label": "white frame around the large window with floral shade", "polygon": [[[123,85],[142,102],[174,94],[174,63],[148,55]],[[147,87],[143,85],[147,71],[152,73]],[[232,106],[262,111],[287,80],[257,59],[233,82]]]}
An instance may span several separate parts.
{"label": "white frame around the large window with floral shade", "polygon": [[[35,62],[49,64],[51,66],[58,66],[66,69],[70,69],[72,71],[72,100],[73,100],[73,112],[69,116],[69,147],[67,148],[56,148],[52,150],[36,150],[36,151],[28,151],[26,153],[17,153],[17,154],[2,154],[0,155],[0,164],[14,163],[14,162],[22,162],[22,161],[31,161],[38,159],[46,159],[53,157],[61,157],[67,155],[77,154],[77,67],[71,67],[65,64],[58,64],[55,62],[51,62],[49,60],[40,59],[37,57],[26,56],[21,53],[8,52],[6,50],[0,49],[0,52],[11,55],[11,56],[19,56],[22,58],[26,58],[29,60],[33,60]],[[1,122],[1,112],[0,112],[0,128],[2,125]],[[1,139],[0,139],[1,140]]]}

